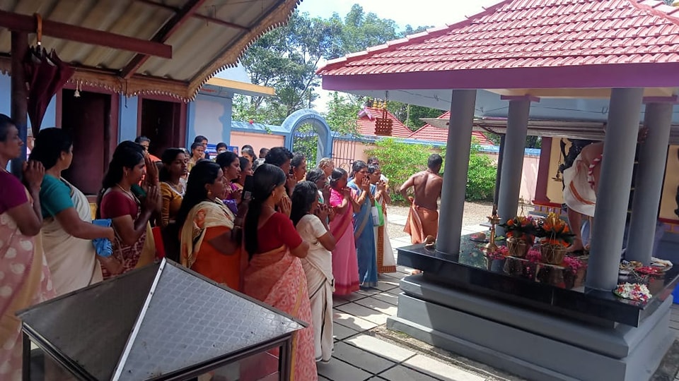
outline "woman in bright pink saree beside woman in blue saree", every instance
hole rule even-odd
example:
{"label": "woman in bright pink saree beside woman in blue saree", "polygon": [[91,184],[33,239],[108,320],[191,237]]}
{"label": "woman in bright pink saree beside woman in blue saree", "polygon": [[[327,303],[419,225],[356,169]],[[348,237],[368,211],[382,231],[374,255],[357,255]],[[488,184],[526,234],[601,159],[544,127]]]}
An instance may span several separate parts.
{"label": "woman in bright pink saree beside woman in blue saree", "polygon": [[330,234],[337,241],[332,250],[332,275],[335,277],[335,295],[359,291],[359,260],[354,241],[354,207],[352,190],[347,188],[347,171],[335,168],[330,174],[330,206],[335,209],[335,219],[330,222]]}

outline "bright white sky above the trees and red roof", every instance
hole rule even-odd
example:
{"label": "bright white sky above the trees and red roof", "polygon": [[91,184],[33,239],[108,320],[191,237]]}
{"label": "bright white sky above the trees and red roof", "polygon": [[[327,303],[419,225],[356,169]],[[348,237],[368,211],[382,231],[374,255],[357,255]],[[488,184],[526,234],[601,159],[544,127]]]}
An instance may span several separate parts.
{"label": "bright white sky above the trees and red roof", "polygon": [[[312,17],[329,18],[332,13],[340,17],[349,13],[354,4],[363,7],[366,13],[375,13],[380,18],[390,18],[396,25],[404,28],[410,24],[412,28],[422,25],[444,26],[465,20],[465,16],[473,16],[483,11],[482,7],[492,6],[501,0],[303,0],[298,6],[301,12]],[[321,62],[320,66],[323,66]],[[327,111],[330,92],[318,88],[320,98],[313,103],[319,112]]]}

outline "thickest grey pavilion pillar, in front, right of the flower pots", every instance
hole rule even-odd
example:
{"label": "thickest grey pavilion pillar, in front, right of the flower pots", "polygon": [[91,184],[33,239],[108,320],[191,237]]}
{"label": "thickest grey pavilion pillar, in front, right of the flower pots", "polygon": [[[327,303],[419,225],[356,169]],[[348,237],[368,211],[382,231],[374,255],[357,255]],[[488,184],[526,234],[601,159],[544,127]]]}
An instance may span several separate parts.
{"label": "thickest grey pavilion pillar, in front, right of the flower pots", "polygon": [[610,93],[585,283],[588,289],[610,291],[617,285],[643,97],[642,88]]}

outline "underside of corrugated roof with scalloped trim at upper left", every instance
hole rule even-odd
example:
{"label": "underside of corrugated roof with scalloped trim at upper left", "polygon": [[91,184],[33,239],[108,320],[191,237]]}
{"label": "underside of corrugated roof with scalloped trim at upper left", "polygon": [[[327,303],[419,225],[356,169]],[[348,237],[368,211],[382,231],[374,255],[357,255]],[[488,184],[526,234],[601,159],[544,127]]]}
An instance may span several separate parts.
{"label": "underside of corrugated roof with scalloped trim at upper left", "polygon": [[[0,0],[0,9],[44,20],[153,40],[190,0]],[[289,19],[297,0],[205,1],[164,39],[172,59],[151,56],[128,80],[117,75],[137,53],[60,40],[47,35],[42,45],[62,61],[79,67],[73,82],[108,87],[128,95],[156,92],[192,99],[209,78],[235,66],[245,49],[262,34]],[[29,41],[34,42],[35,37]],[[0,29],[0,56],[11,53],[10,31]],[[9,70],[8,60],[1,69]]]}

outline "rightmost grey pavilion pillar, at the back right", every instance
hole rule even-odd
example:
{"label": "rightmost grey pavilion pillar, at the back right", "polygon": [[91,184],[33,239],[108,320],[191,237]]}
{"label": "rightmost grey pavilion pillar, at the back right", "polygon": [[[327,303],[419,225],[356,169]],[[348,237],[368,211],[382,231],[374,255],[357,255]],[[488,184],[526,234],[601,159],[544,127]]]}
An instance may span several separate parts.
{"label": "rightmost grey pavilion pillar, at the back right", "polygon": [[651,262],[673,107],[673,103],[646,104],[644,127],[648,128],[648,135],[639,148],[632,219],[629,222],[632,234],[627,235],[625,252],[625,259],[638,260],[644,265]]}

